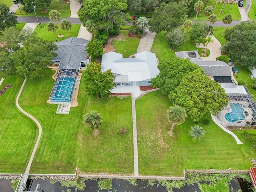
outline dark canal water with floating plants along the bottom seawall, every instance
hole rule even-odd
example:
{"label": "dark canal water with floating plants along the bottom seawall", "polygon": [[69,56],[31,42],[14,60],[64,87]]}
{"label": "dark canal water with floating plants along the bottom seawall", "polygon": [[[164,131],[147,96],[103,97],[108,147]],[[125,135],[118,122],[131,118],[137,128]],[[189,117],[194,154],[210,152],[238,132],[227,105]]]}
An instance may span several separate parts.
{"label": "dark canal water with floating plants along the bottom seawall", "polygon": [[[205,183],[202,181],[202,183]],[[207,182],[206,182],[207,183]],[[76,187],[63,187],[60,182],[52,183],[50,180],[28,180],[26,187],[29,191],[35,191],[37,184],[40,184],[41,189],[38,192],[168,192],[166,186],[162,186],[159,182],[148,182],[145,180],[137,180],[136,186],[126,180],[113,179],[111,190],[99,190],[98,180],[85,180],[84,190],[78,190]],[[229,185],[229,192],[253,192],[248,184],[242,178],[234,178]],[[0,192],[14,192],[10,180],[0,179]],[[180,188],[173,188],[173,192],[202,192],[198,184],[187,185]]]}

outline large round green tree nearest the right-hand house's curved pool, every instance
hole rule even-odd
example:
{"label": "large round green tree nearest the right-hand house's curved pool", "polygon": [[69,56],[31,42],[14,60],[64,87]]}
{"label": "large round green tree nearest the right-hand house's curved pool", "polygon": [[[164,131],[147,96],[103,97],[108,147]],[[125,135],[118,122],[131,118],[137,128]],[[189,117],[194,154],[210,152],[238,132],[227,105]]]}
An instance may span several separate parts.
{"label": "large round green tree nearest the right-hand house's curved pool", "polygon": [[193,121],[198,121],[205,114],[218,114],[228,105],[226,96],[218,82],[198,70],[184,76],[174,92],[169,94],[170,100],[184,107]]}

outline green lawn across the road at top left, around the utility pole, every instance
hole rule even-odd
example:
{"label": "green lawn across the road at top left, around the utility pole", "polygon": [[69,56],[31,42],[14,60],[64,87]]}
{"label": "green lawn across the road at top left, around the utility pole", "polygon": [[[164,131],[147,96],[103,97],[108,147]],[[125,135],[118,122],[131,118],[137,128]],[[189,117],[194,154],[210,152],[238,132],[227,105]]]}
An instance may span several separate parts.
{"label": "green lawn across the road at top left, around the utility pole", "polygon": [[[20,9],[23,6],[20,6]],[[45,7],[46,10],[48,10],[48,12],[46,13],[42,13],[43,8],[40,6],[36,6],[36,13],[38,14],[38,16],[45,16],[48,17],[49,16],[49,12],[53,9],[58,10],[61,13],[61,17],[70,17],[71,16],[71,11],[70,11],[70,3],[66,3],[64,1],[61,0],[53,0],[50,4],[49,7]],[[15,14],[17,16],[35,16],[34,11],[31,13],[26,13],[24,11],[21,10],[21,13],[19,10],[17,10],[15,12]]]}

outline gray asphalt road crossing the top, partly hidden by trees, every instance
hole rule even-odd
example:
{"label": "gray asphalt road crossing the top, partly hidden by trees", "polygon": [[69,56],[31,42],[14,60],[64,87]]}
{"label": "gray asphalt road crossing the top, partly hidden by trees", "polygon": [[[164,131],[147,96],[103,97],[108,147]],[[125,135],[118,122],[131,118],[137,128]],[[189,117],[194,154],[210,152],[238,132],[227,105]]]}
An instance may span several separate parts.
{"label": "gray asphalt road crossing the top, partly hidden by trees", "polygon": [[[247,4],[247,3],[246,3]],[[72,24],[82,24],[82,22],[79,20],[79,18],[62,18],[62,19],[68,19]],[[41,23],[48,23],[50,20],[48,17],[39,17],[39,20]],[[36,17],[18,17],[18,22],[22,23],[37,23]],[[58,22],[60,23],[61,20]],[[200,22],[200,21],[199,21]],[[232,21],[232,23],[227,24],[226,27],[233,27],[237,24],[240,24],[241,21]],[[126,25],[132,25],[132,22],[126,22]],[[215,24],[212,24],[214,27],[224,27],[224,23],[222,21],[217,21]]]}

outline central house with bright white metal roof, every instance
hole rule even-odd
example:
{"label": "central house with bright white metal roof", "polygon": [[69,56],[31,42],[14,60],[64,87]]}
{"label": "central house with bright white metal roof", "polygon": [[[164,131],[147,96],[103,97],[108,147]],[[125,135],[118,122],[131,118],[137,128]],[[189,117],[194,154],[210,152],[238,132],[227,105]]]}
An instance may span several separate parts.
{"label": "central house with bright white metal roof", "polygon": [[102,55],[102,71],[111,69],[116,76],[117,86],[150,86],[151,79],[159,74],[156,54],[151,52],[140,52],[135,58],[123,58],[116,52]]}

